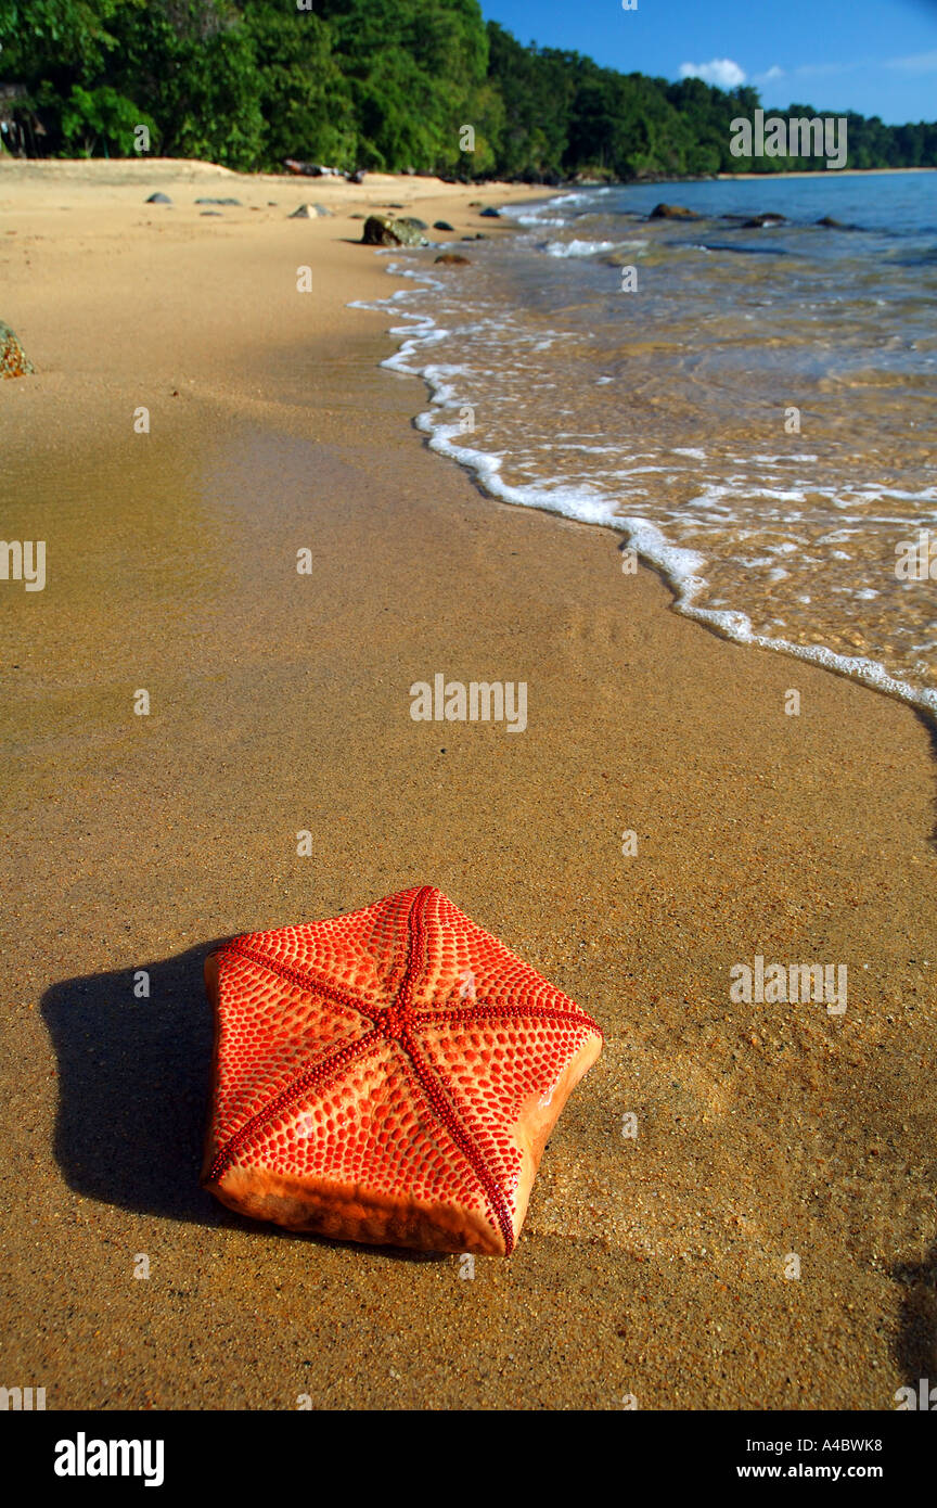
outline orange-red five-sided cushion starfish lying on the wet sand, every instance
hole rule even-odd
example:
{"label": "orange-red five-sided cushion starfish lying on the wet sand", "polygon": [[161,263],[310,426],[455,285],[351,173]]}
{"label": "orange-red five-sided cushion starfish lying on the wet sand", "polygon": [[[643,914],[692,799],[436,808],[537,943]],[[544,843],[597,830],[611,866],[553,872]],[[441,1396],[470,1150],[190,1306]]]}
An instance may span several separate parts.
{"label": "orange-red five-sided cushion starfish lying on the wet sand", "polygon": [[514,1250],[603,1034],[432,885],[233,938],[215,1010],[202,1182],[292,1231]]}

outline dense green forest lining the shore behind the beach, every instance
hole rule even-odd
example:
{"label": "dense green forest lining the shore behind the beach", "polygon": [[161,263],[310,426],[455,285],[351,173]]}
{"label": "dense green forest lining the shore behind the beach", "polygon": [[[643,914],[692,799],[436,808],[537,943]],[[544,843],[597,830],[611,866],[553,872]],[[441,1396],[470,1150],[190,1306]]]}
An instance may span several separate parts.
{"label": "dense green forest lining the shore behind the beach", "polygon": [[[478,0],[0,0],[0,155],[133,157],[148,140],[246,172],[294,157],[547,184],[824,170],[731,154],[752,87],[521,44]],[[845,119],[848,167],[937,166],[937,124]]]}

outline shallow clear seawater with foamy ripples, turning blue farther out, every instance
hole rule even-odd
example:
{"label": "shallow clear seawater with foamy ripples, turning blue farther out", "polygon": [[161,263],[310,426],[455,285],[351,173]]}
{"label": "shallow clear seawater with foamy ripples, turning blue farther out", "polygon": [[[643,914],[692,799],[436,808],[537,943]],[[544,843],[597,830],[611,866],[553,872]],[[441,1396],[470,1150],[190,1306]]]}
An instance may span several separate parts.
{"label": "shallow clear seawater with foamy ripples, turning blue farther out", "polygon": [[426,380],[431,446],[619,529],[678,611],[937,715],[937,579],[896,575],[922,534],[937,575],[937,173],[578,190],[511,220],[455,246],[470,267],[387,253],[386,365]]}

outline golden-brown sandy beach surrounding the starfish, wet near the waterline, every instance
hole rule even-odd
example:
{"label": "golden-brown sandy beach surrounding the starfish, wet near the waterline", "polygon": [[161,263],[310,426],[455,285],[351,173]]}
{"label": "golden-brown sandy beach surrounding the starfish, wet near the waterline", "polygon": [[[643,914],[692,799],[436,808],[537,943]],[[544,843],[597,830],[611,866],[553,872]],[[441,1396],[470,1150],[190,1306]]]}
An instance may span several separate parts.
{"label": "golden-brown sandy beach surrounding the starfish, wet near the waterline", "polygon": [[[353,216],[472,258],[509,220],[470,201],[533,198],[0,163],[36,366],[0,383],[0,532],[47,541],[42,591],[0,582],[0,1335],[48,1408],[890,1410],[935,1375],[934,730],[484,496],[348,308],[402,287]],[[435,673],[526,680],[527,730],[414,722]],[[413,884],[606,1033],[473,1280],[197,1182],[212,942]],[[847,965],[847,1010],[732,1001],[756,956]]]}

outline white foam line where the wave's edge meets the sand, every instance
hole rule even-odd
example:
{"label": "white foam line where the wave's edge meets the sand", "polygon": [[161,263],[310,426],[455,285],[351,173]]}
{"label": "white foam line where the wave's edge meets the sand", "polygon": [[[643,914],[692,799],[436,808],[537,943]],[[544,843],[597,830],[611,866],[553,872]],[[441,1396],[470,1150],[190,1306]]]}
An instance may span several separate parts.
{"label": "white foam line where the wave's edge meets the sand", "polygon": [[[429,287],[441,287],[438,279],[423,271],[401,270],[393,264],[387,270],[395,273],[395,276],[401,276],[401,271],[404,271],[405,276],[423,280]],[[392,303],[401,302],[401,293],[410,296],[408,290],[398,290],[390,299],[378,300],[377,303],[357,300],[351,308],[387,309]],[[431,391],[431,401],[437,406],[438,403],[455,406],[459,401],[470,404],[470,398],[456,398],[455,389],[446,391],[438,380],[438,374],[441,372],[450,375],[453,372],[452,366],[414,366],[408,360],[420,347],[435,345],[444,339],[449,330],[437,326],[435,320],[429,315],[404,311],[404,318],[410,321],[410,326],[393,326],[390,330],[392,335],[404,338],[401,348],[393,356],[387,356],[381,362],[381,366],[389,366],[392,371],[405,372],[411,377],[422,377]],[[417,330],[413,329],[414,326]],[[446,395],[443,397],[443,394]],[[821,665],[824,670],[845,676],[850,680],[857,680],[872,691],[884,692],[913,707],[919,707],[937,724],[937,691],[920,691],[908,686],[907,682],[889,676],[884,665],[880,665],[878,661],[857,654],[838,654],[824,644],[792,644],[791,639],[755,633],[752,620],[746,612],[697,606],[696,599],[708,585],[705,576],[702,576],[702,570],[707,566],[705,556],[696,550],[672,544],[649,519],[616,513],[615,501],[595,487],[581,484],[578,487],[559,486],[545,490],[542,486],[533,483],[523,487],[511,487],[500,477],[503,457],[453,443],[453,437],[461,434],[458,424],[446,424],[440,419],[438,413],[426,410],[417,415],[416,425],[429,436],[428,445],[432,451],[447,455],[450,460],[458,461],[459,466],[465,466],[475,472],[485,490],[502,502],[523,508],[539,508],[544,513],[559,513],[566,519],[575,519],[578,523],[597,523],[625,534],[628,546],[664,576],[675,596],[673,606],[682,617],[705,624],[705,627],[713,629],[722,638],[732,639],[735,644],[753,644],[756,648],[774,650],[776,653],[789,654],[794,659],[807,661],[812,665]],[[789,496],[786,493],[767,495]]]}

